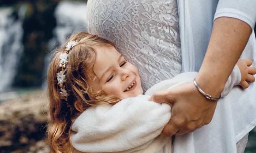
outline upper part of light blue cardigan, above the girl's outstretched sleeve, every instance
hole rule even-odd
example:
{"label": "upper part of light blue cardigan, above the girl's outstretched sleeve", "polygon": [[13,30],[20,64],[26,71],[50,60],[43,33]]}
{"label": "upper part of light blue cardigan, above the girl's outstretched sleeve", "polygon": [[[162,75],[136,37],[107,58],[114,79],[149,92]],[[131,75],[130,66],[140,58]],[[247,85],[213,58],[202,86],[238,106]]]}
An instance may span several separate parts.
{"label": "upper part of light blue cardigan, above the girl's outstretched sleeve", "polygon": [[[255,0],[177,0],[177,2],[183,72],[199,70],[207,50],[212,31],[211,23],[214,19],[223,16],[238,18],[249,24],[252,31],[254,29]],[[252,33],[242,56],[253,60],[252,52],[256,51],[255,44],[255,35]]]}

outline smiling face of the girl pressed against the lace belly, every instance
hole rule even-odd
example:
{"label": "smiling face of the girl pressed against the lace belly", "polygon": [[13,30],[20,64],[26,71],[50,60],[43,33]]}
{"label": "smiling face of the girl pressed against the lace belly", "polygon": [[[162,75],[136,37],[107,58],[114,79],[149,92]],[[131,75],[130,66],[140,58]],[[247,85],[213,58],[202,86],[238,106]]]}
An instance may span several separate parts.
{"label": "smiling face of the girl pressed against the lace belly", "polygon": [[97,47],[95,50],[97,57],[93,71],[99,80],[91,82],[94,92],[101,89],[122,99],[143,94],[135,66],[127,62],[114,47]]}

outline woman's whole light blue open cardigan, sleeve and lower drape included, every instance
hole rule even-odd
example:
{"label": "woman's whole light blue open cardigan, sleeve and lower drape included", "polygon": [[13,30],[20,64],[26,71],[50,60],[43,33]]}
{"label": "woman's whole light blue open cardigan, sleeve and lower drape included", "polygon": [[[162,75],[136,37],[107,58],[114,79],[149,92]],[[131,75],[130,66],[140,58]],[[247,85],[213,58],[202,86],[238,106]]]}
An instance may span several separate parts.
{"label": "woman's whole light blue open cardigan, sleeve and lower drape included", "polygon": [[[218,17],[238,18],[250,25],[252,34],[240,59],[250,58],[256,66],[255,0],[177,1],[183,72],[200,69],[211,36],[211,23]],[[237,152],[236,142],[256,126],[256,83],[245,90],[234,87],[225,99],[225,103],[217,103],[210,124],[175,138],[174,153]]]}

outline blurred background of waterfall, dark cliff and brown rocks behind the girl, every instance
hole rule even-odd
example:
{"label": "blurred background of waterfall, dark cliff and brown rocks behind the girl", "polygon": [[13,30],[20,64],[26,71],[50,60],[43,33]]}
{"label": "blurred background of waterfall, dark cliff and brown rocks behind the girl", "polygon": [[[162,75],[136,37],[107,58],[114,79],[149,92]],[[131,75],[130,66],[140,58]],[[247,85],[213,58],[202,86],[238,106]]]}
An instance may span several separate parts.
{"label": "blurred background of waterfall, dark cliff and brown rocks behind the girl", "polygon": [[[48,153],[50,52],[87,31],[86,1],[0,0],[0,153]],[[256,152],[256,130],[245,153]]]}

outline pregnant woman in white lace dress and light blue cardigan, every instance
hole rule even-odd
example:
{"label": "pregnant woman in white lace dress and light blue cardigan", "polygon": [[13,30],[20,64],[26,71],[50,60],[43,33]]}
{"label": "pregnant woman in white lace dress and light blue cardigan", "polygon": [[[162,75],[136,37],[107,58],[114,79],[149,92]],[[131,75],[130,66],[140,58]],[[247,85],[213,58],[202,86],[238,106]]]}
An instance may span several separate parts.
{"label": "pregnant woman in white lace dress and light blue cardigan", "polygon": [[[251,0],[88,0],[88,31],[129,57],[144,91],[181,72],[198,71],[198,86],[217,99],[239,58],[256,65],[255,7]],[[177,135],[174,152],[243,152],[256,125],[256,85],[231,92],[229,102],[217,103],[189,82],[154,95],[154,101],[172,105],[162,133]]]}

